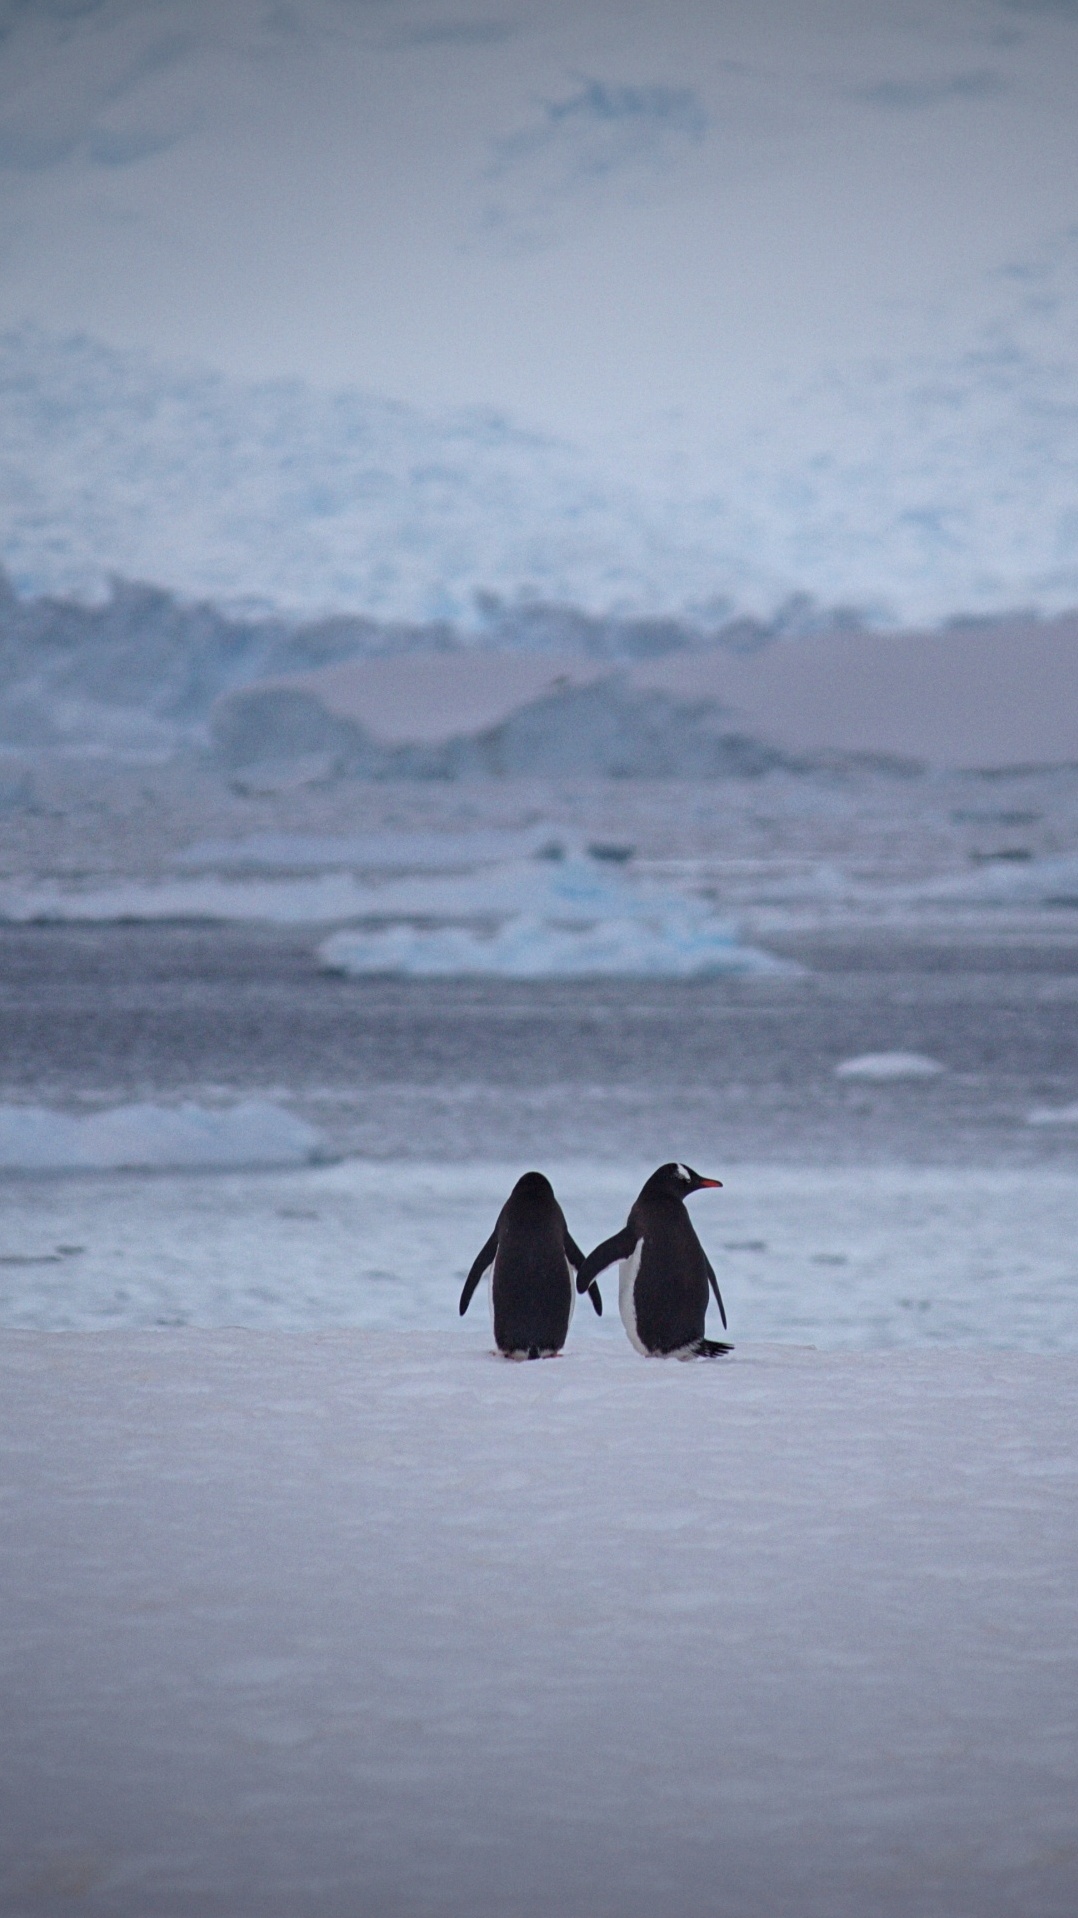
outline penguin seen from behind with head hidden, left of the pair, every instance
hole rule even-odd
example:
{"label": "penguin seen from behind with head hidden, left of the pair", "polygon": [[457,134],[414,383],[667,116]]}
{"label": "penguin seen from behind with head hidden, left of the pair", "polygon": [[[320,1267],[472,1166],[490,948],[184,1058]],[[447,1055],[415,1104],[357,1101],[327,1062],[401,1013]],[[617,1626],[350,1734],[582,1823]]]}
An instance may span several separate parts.
{"label": "penguin seen from behind with head hidden, left of the pair", "polygon": [[[464,1291],[464,1318],[480,1279],[491,1279],[491,1320],[495,1345],[506,1358],[554,1358],[574,1316],[574,1272],[583,1252],[570,1237],[566,1216],[554,1199],[551,1180],[526,1172],[499,1212],[483,1251],[476,1258]],[[602,1316],[598,1285],[581,1285]]]}

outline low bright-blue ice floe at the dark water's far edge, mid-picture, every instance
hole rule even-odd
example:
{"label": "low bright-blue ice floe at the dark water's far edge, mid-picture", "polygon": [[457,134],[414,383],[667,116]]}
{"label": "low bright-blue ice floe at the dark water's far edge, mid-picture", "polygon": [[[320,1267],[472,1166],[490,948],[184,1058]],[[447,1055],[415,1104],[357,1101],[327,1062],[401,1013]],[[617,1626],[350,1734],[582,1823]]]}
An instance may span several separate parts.
{"label": "low bright-blue ice floe at the dark water's far edge, mid-picture", "polygon": [[781,959],[740,946],[721,921],[692,915],[600,919],[591,926],[552,924],[518,913],[495,932],[470,926],[336,932],[318,947],[332,972],[474,974],[503,978],[664,976],[783,972]]}

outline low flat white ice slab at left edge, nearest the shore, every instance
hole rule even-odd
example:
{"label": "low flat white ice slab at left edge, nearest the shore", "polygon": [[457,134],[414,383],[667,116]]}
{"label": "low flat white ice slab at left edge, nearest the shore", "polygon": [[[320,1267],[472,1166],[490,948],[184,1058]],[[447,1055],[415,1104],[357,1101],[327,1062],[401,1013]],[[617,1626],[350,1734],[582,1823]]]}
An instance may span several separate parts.
{"label": "low flat white ice slab at left edge, nearest the shore", "polygon": [[109,1172],[299,1166],[320,1135],[267,1099],[211,1111],[199,1105],[117,1105],[73,1118],[38,1105],[0,1105],[0,1170]]}

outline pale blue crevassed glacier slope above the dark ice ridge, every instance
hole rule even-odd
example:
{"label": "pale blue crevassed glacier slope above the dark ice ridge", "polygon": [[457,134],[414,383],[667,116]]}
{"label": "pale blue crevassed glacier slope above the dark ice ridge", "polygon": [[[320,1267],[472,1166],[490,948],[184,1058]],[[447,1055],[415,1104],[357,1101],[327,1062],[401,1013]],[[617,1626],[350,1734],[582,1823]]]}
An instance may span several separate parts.
{"label": "pale blue crevassed glacier slope above the dark ice ridge", "polygon": [[[884,625],[1078,600],[1078,232],[965,341],[779,382],[754,416],[575,445],[495,409],[244,382],[35,326],[0,339],[0,564],[292,616],[483,631],[535,602]],[[673,439],[671,439],[673,433]]]}

